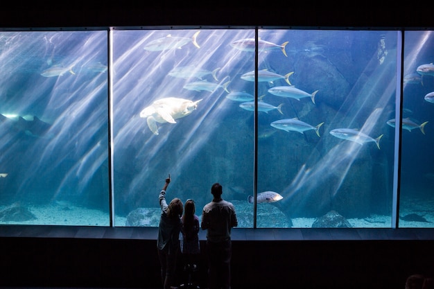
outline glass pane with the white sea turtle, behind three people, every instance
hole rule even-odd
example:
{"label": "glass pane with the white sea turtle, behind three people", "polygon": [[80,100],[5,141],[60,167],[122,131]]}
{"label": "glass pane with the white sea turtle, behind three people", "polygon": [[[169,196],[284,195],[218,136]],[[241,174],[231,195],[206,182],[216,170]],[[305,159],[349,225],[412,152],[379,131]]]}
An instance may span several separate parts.
{"label": "glass pane with the white sea turtle, behind three people", "polygon": [[114,30],[113,182],[115,226],[157,227],[158,195],[196,202],[196,214],[223,185],[239,227],[252,227],[254,30]]}

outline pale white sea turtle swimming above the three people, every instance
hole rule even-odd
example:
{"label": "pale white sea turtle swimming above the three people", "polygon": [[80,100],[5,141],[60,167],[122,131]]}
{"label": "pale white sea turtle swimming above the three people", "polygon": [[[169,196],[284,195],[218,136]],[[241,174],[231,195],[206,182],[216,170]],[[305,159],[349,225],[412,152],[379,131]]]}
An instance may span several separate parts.
{"label": "pale white sea turtle swimming above the three people", "polygon": [[192,101],[175,97],[161,98],[155,100],[150,106],[145,107],[140,112],[140,117],[146,119],[150,131],[158,135],[157,122],[176,123],[175,119],[188,116],[196,110],[200,100]]}

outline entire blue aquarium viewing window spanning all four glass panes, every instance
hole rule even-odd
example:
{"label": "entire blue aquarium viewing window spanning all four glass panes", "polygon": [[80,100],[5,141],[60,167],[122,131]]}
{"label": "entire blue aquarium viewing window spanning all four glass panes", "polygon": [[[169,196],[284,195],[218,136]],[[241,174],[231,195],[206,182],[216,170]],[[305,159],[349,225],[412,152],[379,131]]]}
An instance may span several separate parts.
{"label": "entire blue aquarium viewing window spanning all four glass panes", "polygon": [[[434,227],[430,30],[0,32],[0,225]],[[399,121],[397,121],[399,120]]]}

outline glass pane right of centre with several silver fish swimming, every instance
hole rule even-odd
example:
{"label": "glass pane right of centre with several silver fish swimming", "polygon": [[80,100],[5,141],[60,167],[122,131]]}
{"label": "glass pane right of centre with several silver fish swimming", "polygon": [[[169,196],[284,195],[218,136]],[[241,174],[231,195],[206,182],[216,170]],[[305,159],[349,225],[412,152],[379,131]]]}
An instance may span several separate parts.
{"label": "glass pane right of centre with several silver fish swimming", "polygon": [[390,227],[397,32],[259,38],[258,227]]}

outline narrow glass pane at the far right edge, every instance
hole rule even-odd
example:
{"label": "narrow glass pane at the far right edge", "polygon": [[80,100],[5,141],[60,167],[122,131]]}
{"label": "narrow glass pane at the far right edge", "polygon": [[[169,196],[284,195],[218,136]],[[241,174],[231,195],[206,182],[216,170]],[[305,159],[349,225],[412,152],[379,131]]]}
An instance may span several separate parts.
{"label": "narrow glass pane at the far right edge", "polygon": [[434,227],[433,49],[433,31],[406,31],[399,227]]}

